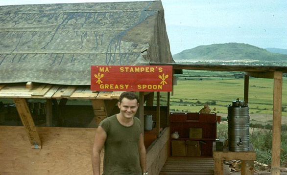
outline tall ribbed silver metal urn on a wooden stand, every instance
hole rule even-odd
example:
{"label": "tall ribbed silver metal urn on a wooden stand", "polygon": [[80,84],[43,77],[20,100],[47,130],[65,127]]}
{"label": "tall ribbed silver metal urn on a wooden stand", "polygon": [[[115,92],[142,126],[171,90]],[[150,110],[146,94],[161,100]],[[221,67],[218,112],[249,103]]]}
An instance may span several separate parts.
{"label": "tall ribbed silver metal urn on a wooden stand", "polygon": [[232,101],[228,106],[228,143],[229,151],[249,151],[249,107],[240,101]]}

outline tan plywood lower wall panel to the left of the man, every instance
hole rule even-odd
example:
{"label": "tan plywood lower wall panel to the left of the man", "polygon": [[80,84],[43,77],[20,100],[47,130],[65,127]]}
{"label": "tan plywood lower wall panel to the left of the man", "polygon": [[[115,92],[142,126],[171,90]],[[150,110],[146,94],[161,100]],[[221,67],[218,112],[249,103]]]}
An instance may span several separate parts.
{"label": "tan plywood lower wall panel to the left of the man", "polygon": [[[42,150],[30,149],[24,127],[0,126],[1,175],[93,174],[91,153],[95,129],[37,127],[37,131]],[[102,161],[103,153],[101,167]]]}

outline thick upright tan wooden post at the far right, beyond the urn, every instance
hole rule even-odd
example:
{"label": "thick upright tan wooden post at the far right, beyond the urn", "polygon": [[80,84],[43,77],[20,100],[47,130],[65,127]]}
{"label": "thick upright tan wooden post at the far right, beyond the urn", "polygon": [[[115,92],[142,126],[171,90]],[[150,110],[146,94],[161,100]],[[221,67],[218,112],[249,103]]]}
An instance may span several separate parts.
{"label": "thick upright tan wooden post at the far right, beyond the urn", "polygon": [[274,72],[271,175],[280,175],[282,72]]}

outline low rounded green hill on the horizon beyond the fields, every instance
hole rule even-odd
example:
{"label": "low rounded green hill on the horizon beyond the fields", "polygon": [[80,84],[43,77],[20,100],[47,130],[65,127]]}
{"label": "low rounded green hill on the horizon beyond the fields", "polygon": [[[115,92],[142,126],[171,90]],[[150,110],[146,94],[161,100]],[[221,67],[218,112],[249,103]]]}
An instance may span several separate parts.
{"label": "low rounded green hill on the horizon beyond the fields", "polygon": [[263,48],[239,43],[201,45],[172,57],[175,61],[187,62],[287,62],[287,55],[271,53]]}

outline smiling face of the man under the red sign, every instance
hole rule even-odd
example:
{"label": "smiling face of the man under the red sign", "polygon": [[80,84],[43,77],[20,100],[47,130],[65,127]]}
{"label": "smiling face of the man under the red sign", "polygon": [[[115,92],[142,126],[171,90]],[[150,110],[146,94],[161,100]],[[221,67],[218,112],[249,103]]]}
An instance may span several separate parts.
{"label": "smiling face of the man under the red sign", "polygon": [[127,98],[123,98],[121,103],[118,103],[118,107],[120,109],[120,113],[125,118],[132,118],[135,116],[137,109],[139,107],[137,99],[129,100]]}

